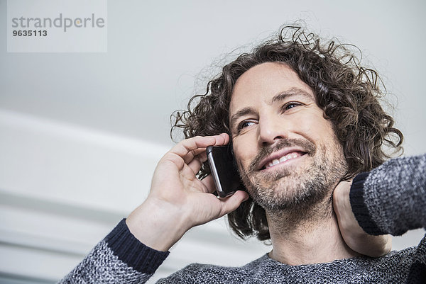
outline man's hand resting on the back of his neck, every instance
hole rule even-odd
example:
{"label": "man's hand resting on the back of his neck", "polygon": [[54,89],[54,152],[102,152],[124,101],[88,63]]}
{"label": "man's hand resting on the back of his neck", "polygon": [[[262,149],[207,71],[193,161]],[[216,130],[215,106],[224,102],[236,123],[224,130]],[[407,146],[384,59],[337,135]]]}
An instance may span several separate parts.
{"label": "man's hand resting on the back of his neck", "polygon": [[387,254],[392,248],[392,239],[388,234],[373,236],[359,226],[352,212],[349,192],[352,181],[342,181],[334,189],[333,208],[339,222],[344,242],[354,251],[366,256],[378,257]]}

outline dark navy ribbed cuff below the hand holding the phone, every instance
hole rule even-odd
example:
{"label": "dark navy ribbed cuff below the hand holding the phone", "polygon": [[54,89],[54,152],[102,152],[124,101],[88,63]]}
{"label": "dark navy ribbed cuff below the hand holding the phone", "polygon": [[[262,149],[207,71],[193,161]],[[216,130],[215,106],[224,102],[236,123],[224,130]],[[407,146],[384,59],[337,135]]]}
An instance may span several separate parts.
{"label": "dark navy ribbed cuff below the hand holding the phone", "polygon": [[126,219],[121,220],[105,237],[105,242],[121,261],[141,273],[153,274],[169,254],[168,251],[157,251],[139,242],[127,227]]}

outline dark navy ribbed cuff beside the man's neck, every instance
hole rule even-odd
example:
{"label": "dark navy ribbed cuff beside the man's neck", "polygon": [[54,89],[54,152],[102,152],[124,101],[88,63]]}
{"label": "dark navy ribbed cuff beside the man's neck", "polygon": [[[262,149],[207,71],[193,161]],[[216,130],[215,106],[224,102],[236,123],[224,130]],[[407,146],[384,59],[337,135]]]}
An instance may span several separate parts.
{"label": "dark navy ribbed cuff beside the man's neck", "polygon": [[386,232],[381,231],[381,229],[377,227],[364,200],[364,182],[369,174],[370,172],[361,173],[352,181],[351,192],[349,193],[352,212],[354,212],[359,226],[361,226],[367,234],[386,234]]}

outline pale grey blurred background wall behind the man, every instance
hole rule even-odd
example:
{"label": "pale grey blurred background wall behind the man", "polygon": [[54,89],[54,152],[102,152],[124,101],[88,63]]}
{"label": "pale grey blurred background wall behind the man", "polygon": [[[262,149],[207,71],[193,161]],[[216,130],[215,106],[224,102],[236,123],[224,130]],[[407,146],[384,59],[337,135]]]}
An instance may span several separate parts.
{"label": "pale grey blurred background wall behind the man", "polygon": [[[108,52],[7,53],[0,0],[0,280],[69,271],[148,193],[173,145],[170,113],[204,91],[196,79],[299,18],[363,50],[395,103],[405,154],[426,152],[425,10],[420,0],[108,1]],[[194,261],[241,265],[270,249],[217,244],[226,236],[223,221],[194,229],[155,277]]]}

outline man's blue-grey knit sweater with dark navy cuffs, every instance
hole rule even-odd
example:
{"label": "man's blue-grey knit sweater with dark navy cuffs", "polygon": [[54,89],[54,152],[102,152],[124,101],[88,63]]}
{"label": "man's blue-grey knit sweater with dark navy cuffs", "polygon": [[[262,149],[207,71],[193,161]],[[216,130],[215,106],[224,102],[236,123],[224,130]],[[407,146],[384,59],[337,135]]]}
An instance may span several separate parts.
{"label": "man's blue-grey knit sweater with dark navy cuffs", "polygon": [[[350,197],[370,234],[425,228],[426,155],[392,159],[359,174]],[[138,242],[122,220],[60,283],[145,283],[167,256]],[[158,283],[426,283],[426,237],[417,247],[377,259],[288,266],[266,254],[242,267],[195,263]]]}

